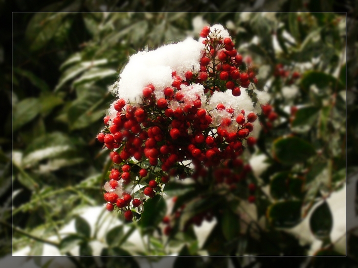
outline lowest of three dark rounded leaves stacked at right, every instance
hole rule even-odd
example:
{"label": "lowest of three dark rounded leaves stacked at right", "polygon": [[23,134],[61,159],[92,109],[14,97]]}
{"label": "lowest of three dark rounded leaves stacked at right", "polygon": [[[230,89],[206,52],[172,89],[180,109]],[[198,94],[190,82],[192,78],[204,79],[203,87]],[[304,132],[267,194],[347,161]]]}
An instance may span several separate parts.
{"label": "lowest of three dark rounded leaves stacked at right", "polygon": [[274,227],[294,227],[301,221],[301,205],[301,201],[275,203],[267,210],[267,218]]}

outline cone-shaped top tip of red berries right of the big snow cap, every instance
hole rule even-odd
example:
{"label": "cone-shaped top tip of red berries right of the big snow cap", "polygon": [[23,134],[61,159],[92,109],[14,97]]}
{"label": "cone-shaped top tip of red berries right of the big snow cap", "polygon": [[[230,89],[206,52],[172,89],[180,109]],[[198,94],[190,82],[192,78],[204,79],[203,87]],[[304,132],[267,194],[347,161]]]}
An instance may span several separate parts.
{"label": "cone-shaped top tip of red berries right of the big snow cap", "polygon": [[235,50],[230,37],[217,38],[205,27],[200,36],[205,38],[205,53],[200,59],[200,72],[196,79],[202,81],[206,92],[231,90],[234,96],[241,94],[240,87],[248,88],[250,83],[257,84],[256,70],[248,58],[243,64],[242,56]]}

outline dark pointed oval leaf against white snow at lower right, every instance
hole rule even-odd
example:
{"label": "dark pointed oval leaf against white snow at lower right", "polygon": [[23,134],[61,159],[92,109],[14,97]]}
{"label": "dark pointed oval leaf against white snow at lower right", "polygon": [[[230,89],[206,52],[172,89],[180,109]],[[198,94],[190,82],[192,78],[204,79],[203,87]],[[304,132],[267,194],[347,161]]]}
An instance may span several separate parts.
{"label": "dark pointed oval leaf against white snow at lower right", "polygon": [[327,202],[323,202],[312,213],[309,219],[309,227],[311,232],[317,239],[325,239],[329,237],[329,234],[333,226],[333,217],[329,209]]}

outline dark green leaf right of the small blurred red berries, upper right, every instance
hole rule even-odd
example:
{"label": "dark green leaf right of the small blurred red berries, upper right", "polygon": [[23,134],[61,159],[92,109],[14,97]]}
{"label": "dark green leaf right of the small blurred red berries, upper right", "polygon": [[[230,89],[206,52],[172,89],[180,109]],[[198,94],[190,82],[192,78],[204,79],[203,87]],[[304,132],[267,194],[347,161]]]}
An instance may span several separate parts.
{"label": "dark green leaf right of the small blurred red berries, upper right", "polygon": [[311,85],[316,85],[318,88],[332,87],[337,89],[344,88],[344,85],[333,76],[320,71],[306,71],[301,79],[301,87],[306,91]]}

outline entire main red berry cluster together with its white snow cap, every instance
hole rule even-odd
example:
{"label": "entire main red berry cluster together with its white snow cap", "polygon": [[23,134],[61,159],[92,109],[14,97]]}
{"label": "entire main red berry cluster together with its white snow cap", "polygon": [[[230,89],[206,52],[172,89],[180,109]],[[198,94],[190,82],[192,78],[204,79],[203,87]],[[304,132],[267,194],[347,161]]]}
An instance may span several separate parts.
{"label": "entire main red berry cluster together with its white snow cap", "polygon": [[[114,163],[103,187],[107,210],[121,210],[130,221],[171,177],[198,180],[208,167],[216,184],[245,176],[247,170],[228,172],[227,161],[240,162],[243,150],[255,145],[261,106],[276,119],[263,106],[267,94],[254,86],[251,64],[221,25],[205,27],[198,41],[187,38],[129,58],[110,87],[116,100],[97,135]],[[185,161],[193,168],[184,168]]]}

